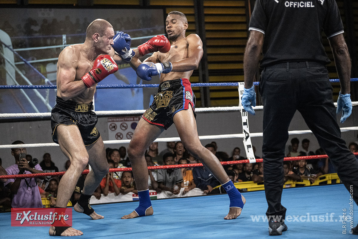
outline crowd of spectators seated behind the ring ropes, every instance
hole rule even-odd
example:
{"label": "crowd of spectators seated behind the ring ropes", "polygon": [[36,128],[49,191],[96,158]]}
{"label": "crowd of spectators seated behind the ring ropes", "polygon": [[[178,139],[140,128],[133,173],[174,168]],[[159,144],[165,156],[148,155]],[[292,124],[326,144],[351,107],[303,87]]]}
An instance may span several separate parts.
{"label": "crowd of spectators seated behind the ring ropes", "polygon": [[[24,143],[17,140],[12,144],[14,148],[11,149],[11,155],[15,159],[15,164],[4,169],[1,167],[0,158],[0,175],[59,171],[58,167],[51,160],[49,153],[44,153],[42,161],[34,167],[30,167],[29,164],[33,161],[33,157],[27,154],[26,148],[21,147],[21,144]],[[321,148],[315,150],[315,152],[311,151],[309,144],[310,141],[308,139],[303,139],[300,145],[299,139],[293,138],[291,144],[286,149],[287,157],[325,154]],[[198,159],[187,152],[182,142],[167,142],[166,147],[159,152],[158,143],[152,143],[145,154],[147,166],[200,163]],[[238,147],[232,150],[231,156],[226,152],[218,151],[216,142],[205,145],[205,148],[215,154],[219,161],[245,159],[241,156],[241,150]],[[255,147],[253,149],[255,153]],[[358,144],[351,142],[349,149],[353,153],[358,152]],[[126,148],[123,146],[118,149],[107,148],[106,157],[110,168],[131,167]],[[255,157],[261,158],[256,155]],[[71,161],[66,161],[64,164],[65,169],[67,170],[70,165]],[[88,165],[86,169],[88,169]],[[234,183],[248,181],[253,181],[254,183],[263,182],[263,163],[228,164],[224,166],[224,169]],[[301,181],[305,179],[314,183],[319,176],[327,173],[335,173],[335,168],[329,161],[329,158],[284,162],[285,182],[288,180]],[[220,183],[205,167],[152,169],[148,170],[148,175],[149,189],[155,190],[157,193],[165,193],[168,197],[178,195],[182,188],[182,195],[185,195],[185,193],[194,188],[202,190],[204,194],[226,193],[222,187],[217,187]],[[54,206],[60,179],[59,176],[46,176],[0,180],[0,206],[3,208],[42,207],[42,198],[47,198],[50,206]],[[85,179],[86,174],[83,174],[79,178],[70,200],[72,205],[75,205],[78,201]],[[245,189],[240,191],[245,191]],[[108,172],[103,177],[93,196],[100,199],[101,197],[106,197],[108,193],[114,193],[115,196],[127,193],[136,194],[137,189],[132,172]]]}

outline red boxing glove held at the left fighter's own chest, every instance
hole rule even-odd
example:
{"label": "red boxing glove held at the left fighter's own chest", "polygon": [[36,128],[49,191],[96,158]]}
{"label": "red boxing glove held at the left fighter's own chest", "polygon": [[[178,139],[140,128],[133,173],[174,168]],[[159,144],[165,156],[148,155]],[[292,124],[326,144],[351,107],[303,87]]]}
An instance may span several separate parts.
{"label": "red boxing glove held at the left fighter's own chest", "polygon": [[118,66],[113,58],[109,55],[102,55],[97,57],[92,69],[81,79],[89,88],[116,71],[118,71]]}

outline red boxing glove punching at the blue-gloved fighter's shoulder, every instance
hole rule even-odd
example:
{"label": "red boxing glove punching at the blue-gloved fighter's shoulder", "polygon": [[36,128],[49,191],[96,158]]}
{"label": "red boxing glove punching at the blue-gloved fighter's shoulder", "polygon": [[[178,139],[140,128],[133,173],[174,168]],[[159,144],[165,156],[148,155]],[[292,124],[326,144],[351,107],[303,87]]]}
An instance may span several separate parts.
{"label": "red boxing glove punching at the blue-gloved fighter's shoulder", "polygon": [[170,50],[170,42],[168,38],[164,37],[163,35],[156,35],[152,39],[138,46],[138,50],[141,56],[156,51],[166,53]]}

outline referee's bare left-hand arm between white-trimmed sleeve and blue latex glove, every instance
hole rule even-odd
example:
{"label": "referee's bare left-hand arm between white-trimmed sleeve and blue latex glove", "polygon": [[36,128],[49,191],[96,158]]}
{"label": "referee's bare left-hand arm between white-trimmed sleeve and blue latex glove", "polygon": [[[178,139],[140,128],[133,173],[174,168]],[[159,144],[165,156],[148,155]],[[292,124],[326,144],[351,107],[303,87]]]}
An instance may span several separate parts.
{"label": "referee's bare left-hand arm between white-trimmed sleeve and blue latex glove", "polygon": [[251,30],[244,53],[244,79],[245,88],[252,87],[258,69],[264,35],[261,32]]}

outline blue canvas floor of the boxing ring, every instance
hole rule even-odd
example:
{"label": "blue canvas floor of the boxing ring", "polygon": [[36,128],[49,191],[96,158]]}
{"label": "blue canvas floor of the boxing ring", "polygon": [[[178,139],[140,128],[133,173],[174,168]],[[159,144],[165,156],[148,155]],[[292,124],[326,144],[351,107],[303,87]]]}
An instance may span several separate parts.
{"label": "blue canvas floor of the boxing ring", "polygon": [[[270,238],[267,221],[258,219],[267,209],[265,192],[243,195],[247,203],[235,220],[223,219],[228,212],[228,196],[213,195],[152,200],[154,215],[128,220],[120,218],[131,212],[138,202],[95,205],[94,209],[104,219],[91,220],[87,215],[73,211],[72,225],[83,231],[79,238]],[[314,200],[308,199],[307,195]],[[284,189],[282,205],[287,207],[288,230],[280,238],[356,237],[349,234],[349,229],[347,234],[342,234],[345,229],[342,226],[349,228],[349,222],[341,220],[343,209],[349,209],[349,192],[341,184]],[[354,206],[354,215],[357,211]],[[288,215],[292,216],[291,222]],[[325,221],[319,221],[320,216]],[[353,226],[356,224],[354,219]],[[48,227],[11,227],[9,212],[0,214],[0,225],[1,238],[52,238],[48,235]]]}

